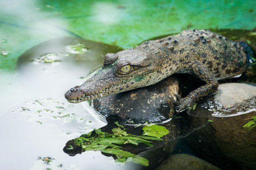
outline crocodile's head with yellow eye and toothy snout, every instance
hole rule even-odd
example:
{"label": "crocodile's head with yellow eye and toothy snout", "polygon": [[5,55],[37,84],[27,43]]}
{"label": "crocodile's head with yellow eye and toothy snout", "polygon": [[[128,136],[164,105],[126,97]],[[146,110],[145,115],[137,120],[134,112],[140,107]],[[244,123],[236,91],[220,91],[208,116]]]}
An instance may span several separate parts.
{"label": "crocodile's head with yellow eye and toothy snout", "polygon": [[103,66],[90,74],[82,85],[67,91],[65,98],[78,103],[152,85],[157,68],[158,62],[140,50],[106,54]]}

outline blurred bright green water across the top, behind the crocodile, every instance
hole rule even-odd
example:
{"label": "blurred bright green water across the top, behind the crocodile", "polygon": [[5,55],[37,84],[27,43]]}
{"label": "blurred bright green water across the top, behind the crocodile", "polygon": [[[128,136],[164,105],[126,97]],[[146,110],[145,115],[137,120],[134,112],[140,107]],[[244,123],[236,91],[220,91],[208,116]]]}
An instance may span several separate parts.
{"label": "blurred bright green water across the top, behind the crocodile", "polygon": [[33,46],[61,36],[132,48],[187,28],[253,29],[255,0],[0,0],[0,70],[14,71]]}

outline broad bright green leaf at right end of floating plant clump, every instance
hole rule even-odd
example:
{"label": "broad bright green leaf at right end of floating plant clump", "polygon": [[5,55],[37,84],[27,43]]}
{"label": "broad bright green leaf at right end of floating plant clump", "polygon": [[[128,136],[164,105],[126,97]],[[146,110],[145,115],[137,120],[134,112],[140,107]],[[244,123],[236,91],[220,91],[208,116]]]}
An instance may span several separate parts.
{"label": "broad bright green leaf at right end of floating plant clump", "polygon": [[143,127],[143,135],[154,136],[157,138],[163,137],[169,133],[166,127],[159,125],[146,125]]}

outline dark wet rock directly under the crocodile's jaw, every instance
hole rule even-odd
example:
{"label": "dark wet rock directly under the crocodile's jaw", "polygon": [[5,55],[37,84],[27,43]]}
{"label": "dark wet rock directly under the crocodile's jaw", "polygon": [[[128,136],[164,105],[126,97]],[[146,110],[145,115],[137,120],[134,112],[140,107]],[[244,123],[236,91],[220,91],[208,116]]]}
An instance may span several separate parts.
{"label": "dark wet rock directly under the crocodile's jaw", "polygon": [[175,112],[175,94],[179,85],[175,77],[145,88],[115,94],[93,101],[96,111],[104,116],[118,115],[127,124],[163,122]]}

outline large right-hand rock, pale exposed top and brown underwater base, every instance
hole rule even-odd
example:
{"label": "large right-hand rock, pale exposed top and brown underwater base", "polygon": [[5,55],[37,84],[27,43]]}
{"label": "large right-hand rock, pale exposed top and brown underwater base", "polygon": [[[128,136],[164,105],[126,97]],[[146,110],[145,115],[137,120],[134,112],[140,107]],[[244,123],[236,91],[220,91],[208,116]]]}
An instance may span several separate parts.
{"label": "large right-hand rock, pale exposed top and brown underwater base", "polygon": [[[255,169],[256,129],[247,130],[243,125],[256,115],[256,86],[221,84],[215,94],[198,102],[190,115],[197,121],[213,121],[187,138],[195,152],[223,169]],[[191,124],[195,124],[193,120]]]}

